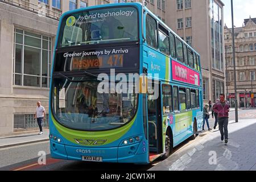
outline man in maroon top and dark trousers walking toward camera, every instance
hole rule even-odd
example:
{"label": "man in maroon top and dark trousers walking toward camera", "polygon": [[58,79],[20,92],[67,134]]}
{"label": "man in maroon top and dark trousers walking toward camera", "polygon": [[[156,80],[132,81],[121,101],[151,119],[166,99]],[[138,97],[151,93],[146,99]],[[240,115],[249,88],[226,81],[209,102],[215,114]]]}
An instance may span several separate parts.
{"label": "man in maroon top and dark trousers walking toward camera", "polygon": [[229,108],[230,105],[225,100],[225,94],[220,94],[220,102],[214,105],[213,110],[218,113],[218,128],[221,133],[221,141],[225,138],[225,144],[228,143]]}

